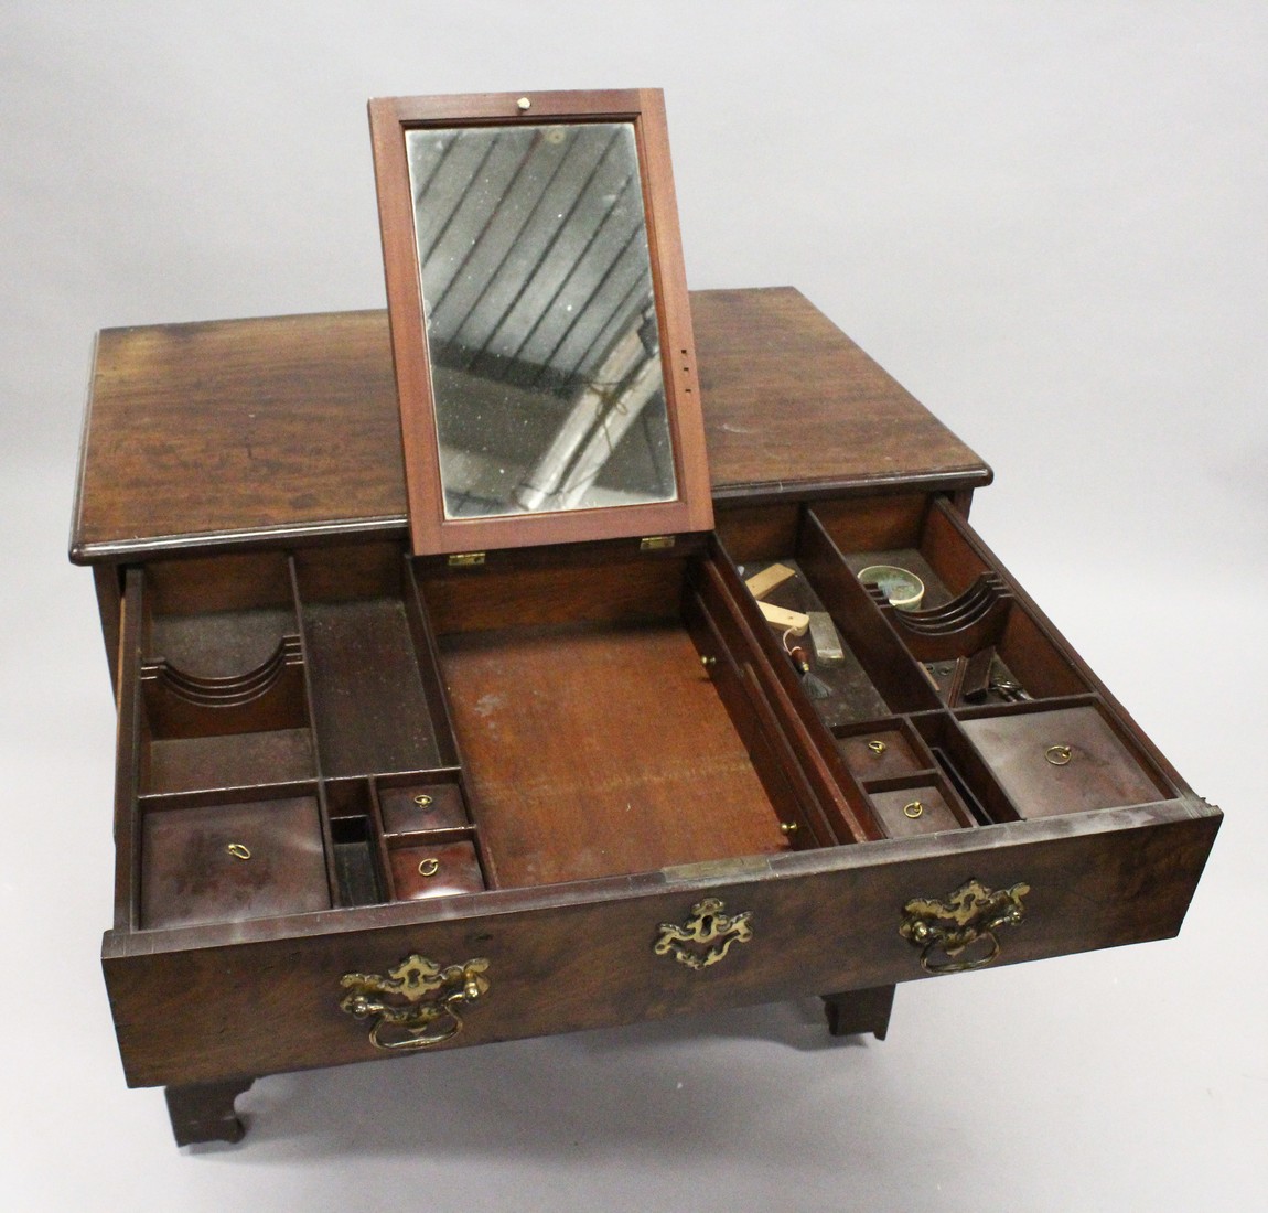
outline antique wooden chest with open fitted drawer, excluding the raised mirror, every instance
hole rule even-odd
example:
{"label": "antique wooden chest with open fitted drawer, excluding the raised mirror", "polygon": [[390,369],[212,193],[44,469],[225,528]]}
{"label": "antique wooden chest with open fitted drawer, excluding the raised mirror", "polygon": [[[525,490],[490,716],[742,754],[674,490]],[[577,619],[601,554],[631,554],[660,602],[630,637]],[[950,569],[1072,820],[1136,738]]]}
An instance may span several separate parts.
{"label": "antique wooden chest with open fitted drawer, excluding the raised mirror", "polygon": [[101,335],[103,956],[178,1141],[264,1074],[809,994],[883,1036],[1179,929],[1220,815],[974,534],[989,469],[796,292],[691,312],[714,531],[476,567],[410,555],[384,313]]}

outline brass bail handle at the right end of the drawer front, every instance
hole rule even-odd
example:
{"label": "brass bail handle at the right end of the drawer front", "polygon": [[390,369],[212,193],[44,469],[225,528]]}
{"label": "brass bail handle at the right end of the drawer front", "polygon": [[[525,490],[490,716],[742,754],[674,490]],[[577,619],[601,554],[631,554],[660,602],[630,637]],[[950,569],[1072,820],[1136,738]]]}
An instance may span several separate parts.
{"label": "brass bail handle at the right end of the drawer front", "polygon": [[[913,897],[903,906],[898,933],[921,949],[921,968],[927,973],[981,968],[999,956],[995,932],[1016,927],[1026,916],[1022,897],[1028,892],[1030,885],[1017,883],[995,892],[980,881],[969,880],[941,901]],[[975,954],[961,958],[970,949]],[[937,959],[938,953],[946,959]]]}

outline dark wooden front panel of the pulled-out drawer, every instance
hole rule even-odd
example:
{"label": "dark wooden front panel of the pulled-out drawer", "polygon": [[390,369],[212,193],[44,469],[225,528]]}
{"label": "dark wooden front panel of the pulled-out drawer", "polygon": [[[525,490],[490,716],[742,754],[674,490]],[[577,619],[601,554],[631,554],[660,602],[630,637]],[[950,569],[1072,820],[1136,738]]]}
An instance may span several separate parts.
{"label": "dark wooden front panel of the pulled-out drawer", "polygon": [[[1170,802],[739,861],[733,876],[696,867],[642,886],[555,886],[535,904],[440,899],[412,921],[415,908],[335,911],[292,919],[306,934],[255,942],[209,929],[110,933],[104,965],[128,1081],[204,1082],[399,1052],[372,1041],[377,1017],[341,1009],[351,989],[342,979],[387,979],[412,956],[487,962],[479,996],[450,1003],[456,1017],[437,1010],[418,1033],[441,1038],[417,1046],[434,1049],[1165,938],[1179,930],[1217,824],[1213,810]],[[959,961],[910,929],[904,937],[913,901],[946,901],[970,880],[1022,890],[1022,920],[987,938],[980,919],[983,938]],[[704,963],[713,951],[721,954]],[[411,1036],[385,1023],[378,1039]]]}

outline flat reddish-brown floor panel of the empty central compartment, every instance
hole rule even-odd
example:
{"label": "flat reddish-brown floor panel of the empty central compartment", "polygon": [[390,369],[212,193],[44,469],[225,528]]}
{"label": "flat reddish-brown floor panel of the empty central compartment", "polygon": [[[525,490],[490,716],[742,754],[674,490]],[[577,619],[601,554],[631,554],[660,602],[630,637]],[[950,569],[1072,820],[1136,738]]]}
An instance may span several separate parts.
{"label": "flat reddish-brown floor panel of the empty central compartment", "polygon": [[680,625],[443,636],[441,662],[503,886],[787,845]]}

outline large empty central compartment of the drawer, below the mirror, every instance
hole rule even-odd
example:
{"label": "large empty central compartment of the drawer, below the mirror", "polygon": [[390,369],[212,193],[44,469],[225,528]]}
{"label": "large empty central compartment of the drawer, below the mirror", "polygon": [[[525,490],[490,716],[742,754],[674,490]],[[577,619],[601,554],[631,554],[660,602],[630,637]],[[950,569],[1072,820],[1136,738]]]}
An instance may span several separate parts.
{"label": "large empty central compartment of the drawer, below the mirror", "polygon": [[790,845],[689,631],[689,564],[420,567],[497,886]]}

